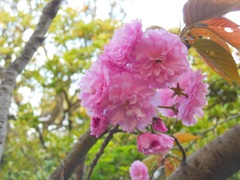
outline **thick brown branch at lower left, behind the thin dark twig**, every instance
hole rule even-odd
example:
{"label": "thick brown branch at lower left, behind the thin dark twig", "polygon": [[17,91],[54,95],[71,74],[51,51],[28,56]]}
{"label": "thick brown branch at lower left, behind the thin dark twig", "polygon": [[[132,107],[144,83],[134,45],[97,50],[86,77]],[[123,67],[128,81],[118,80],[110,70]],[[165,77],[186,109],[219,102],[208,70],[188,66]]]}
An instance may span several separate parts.
{"label": "thick brown branch at lower left, behind the thin dark twig", "polygon": [[68,179],[75,168],[84,161],[84,158],[91,147],[97,142],[95,136],[90,135],[88,130],[84,135],[80,137],[78,142],[67,154],[66,158],[61,162],[57,169],[50,175],[50,180]]}

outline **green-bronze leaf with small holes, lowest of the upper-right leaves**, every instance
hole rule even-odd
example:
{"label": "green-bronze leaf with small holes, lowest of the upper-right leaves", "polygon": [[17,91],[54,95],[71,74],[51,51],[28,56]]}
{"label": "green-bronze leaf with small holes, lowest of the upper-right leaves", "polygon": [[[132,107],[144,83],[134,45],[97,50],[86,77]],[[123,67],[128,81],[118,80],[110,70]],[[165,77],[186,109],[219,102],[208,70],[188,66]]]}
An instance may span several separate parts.
{"label": "green-bronze leaf with small holes, lowest of the upper-right leaves", "polygon": [[240,84],[237,65],[225,48],[208,39],[198,39],[193,47],[201,55],[205,63],[226,81],[232,84],[235,81]]}

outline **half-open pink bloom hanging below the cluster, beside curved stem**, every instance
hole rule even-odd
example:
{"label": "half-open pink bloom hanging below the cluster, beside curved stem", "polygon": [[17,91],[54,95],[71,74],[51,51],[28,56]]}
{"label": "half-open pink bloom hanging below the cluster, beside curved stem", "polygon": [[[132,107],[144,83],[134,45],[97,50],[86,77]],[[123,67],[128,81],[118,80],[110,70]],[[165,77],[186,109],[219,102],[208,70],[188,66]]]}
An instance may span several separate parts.
{"label": "half-open pink bloom hanging below the cluster, beside curved stem", "polygon": [[174,139],[165,134],[145,132],[138,136],[138,151],[145,155],[165,153],[173,147]]}

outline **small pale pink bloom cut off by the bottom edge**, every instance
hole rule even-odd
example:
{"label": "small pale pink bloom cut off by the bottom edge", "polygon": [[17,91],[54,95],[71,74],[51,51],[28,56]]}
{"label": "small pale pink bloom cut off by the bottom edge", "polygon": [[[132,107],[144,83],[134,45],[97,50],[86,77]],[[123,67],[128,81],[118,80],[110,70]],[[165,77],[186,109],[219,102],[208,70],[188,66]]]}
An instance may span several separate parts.
{"label": "small pale pink bloom cut off by the bottom edge", "polygon": [[132,180],[149,180],[148,168],[139,160],[132,163],[129,172]]}

